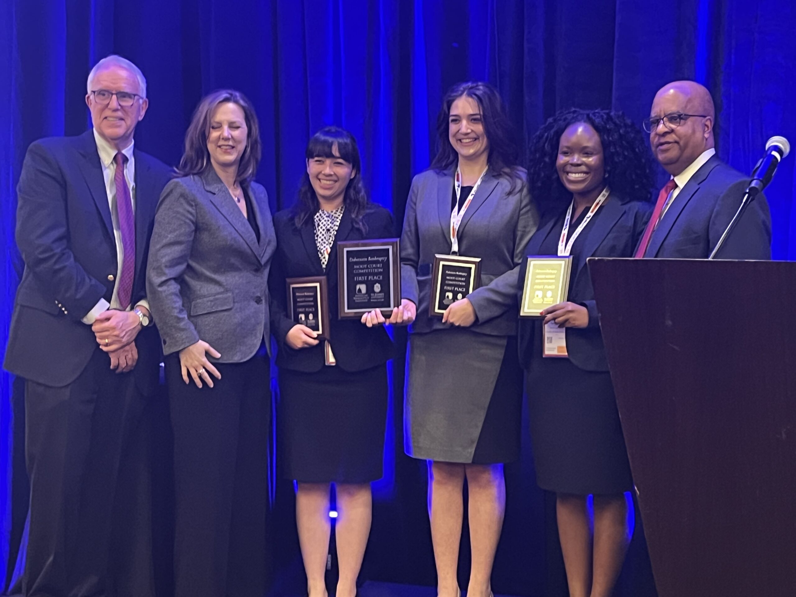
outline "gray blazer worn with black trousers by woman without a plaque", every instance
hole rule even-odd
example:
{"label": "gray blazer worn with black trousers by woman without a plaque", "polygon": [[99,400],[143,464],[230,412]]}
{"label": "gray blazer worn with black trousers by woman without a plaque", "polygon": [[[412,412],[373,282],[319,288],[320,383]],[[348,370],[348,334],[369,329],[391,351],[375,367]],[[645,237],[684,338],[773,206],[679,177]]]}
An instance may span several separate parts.
{"label": "gray blazer worn with black trousers by woman without a plaque", "polygon": [[213,169],[163,189],[146,270],[163,353],[204,340],[221,353],[214,360],[240,363],[261,342],[269,345],[267,279],[276,236],[265,189],[252,182],[248,194],[259,243]]}

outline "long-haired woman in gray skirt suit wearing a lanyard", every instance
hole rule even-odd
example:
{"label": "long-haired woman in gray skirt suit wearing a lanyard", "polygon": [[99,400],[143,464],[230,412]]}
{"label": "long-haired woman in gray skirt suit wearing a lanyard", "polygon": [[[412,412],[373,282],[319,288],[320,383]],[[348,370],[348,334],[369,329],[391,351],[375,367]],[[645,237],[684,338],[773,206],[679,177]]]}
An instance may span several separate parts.
{"label": "long-haired woman in gray skirt suit wearing a lanyard", "polygon": [[[412,181],[400,240],[404,300],[388,320],[414,322],[404,446],[408,455],[430,461],[441,597],[458,595],[465,478],[472,550],[467,595],[490,595],[505,506],[502,463],[520,455],[517,273],[537,215],[525,173],[515,166],[511,128],[489,84],[458,84],[445,96],[439,153]],[[457,248],[461,256],[481,258],[481,287],[452,302],[442,317],[431,317],[434,256]]]}

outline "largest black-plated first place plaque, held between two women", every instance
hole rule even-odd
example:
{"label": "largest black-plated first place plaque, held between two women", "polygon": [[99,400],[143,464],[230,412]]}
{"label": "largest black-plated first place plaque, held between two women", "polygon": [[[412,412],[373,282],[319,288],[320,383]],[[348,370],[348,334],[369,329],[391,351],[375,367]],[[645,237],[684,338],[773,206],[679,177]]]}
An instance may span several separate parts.
{"label": "largest black-plated first place plaque, held between two women", "polygon": [[380,310],[386,317],[400,306],[398,239],[338,243],[338,317],[361,318]]}

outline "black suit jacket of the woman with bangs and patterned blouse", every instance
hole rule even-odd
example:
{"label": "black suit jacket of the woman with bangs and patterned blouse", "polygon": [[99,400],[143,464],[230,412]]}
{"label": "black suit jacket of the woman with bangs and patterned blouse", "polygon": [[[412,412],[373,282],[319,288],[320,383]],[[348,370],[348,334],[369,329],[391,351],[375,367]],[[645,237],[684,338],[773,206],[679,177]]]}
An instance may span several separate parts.
{"label": "black suit jacket of the woman with bangs and patterned blouse", "polygon": [[295,322],[287,317],[287,289],[285,279],[310,275],[326,275],[329,292],[330,344],[338,367],[345,371],[362,371],[386,363],[392,358],[392,340],[384,326],[369,328],[358,319],[338,319],[338,241],[370,240],[395,236],[392,214],[387,209],[373,205],[363,217],[367,233],[354,228],[351,214],[346,209],[340,220],[334,246],[326,263],[326,273],[321,267],[315,244],[315,226],[308,218],[297,228],[291,210],[283,210],[274,217],[276,231],[276,256],[271,264],[271,330],[279,344],[276,365],[312,373],[324,366],[323,342],[306,349],[292,349],[285,343],[287,332]]}

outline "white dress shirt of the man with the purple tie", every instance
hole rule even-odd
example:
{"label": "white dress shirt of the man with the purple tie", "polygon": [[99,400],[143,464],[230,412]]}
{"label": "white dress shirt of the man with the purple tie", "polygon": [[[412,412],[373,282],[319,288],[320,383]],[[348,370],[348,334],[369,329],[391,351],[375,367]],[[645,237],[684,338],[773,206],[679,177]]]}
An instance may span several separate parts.
{"label": "white dress shirt of the man with the purple tie", "polygon": [[[100,134],[94,129],[94,139],[97,144],[97,153],[100,154],[100,163],[102,164],[102,175],[105,179],[105,194],[107,195],[108,207],[111,209],[111,221],[113,222],[113,236],[116,241],[116,275],[114,276],[113,295],[111,302],[107,302],[104,298],[100,298],[92,310],[83,318],[83,322],[89,326],[94,323],[96,316],[107,309],[119,309],[119,279],[122,276],[122,260],[124,259],[124,247],[122,244],[122,231],[119,228],[119,211],[116,209],[116,150],[109,142],[103,139]],[[135,214],[135,157],[133,155],[133,145],[135,142],[131,141],[130,145],[122,150],[122,153],[127,156],[127,163],[124,165],[124,179],[127,182],[127,188],[130,189],[130,198],[132,200],[133,213]],[[135,306],[142,305],[149,310],[149,302],[143,298]],[[132,306],[127,307],[130,310]]]}

